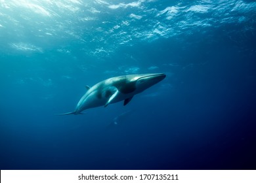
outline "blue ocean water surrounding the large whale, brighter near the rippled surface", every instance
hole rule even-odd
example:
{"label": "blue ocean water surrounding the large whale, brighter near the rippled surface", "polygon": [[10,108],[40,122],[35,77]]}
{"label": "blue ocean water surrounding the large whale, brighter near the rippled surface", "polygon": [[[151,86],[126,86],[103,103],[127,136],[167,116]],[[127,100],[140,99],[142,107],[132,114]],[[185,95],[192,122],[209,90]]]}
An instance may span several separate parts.
{"label": "blue ocean water surrounding the large whale, brighter near the rippled surface", "polygon": [[[0,1],[0,169],[256,169],[255,29],[249,0]],[[167,77],[55,115],[137,73]]]}

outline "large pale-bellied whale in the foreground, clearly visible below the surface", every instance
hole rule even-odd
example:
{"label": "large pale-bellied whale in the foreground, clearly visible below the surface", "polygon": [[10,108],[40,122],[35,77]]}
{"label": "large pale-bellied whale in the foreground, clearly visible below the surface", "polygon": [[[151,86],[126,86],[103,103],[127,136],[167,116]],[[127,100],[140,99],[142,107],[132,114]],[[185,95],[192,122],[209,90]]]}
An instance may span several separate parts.
{"label": "large pale-bellied whale in the foreground, clearly visible below the surface", "polygon": [[123,75],[108,78],[92,87],[85,86],[87,92],[81,97],[73,112],[57,114],[84,114],[83,110],[123,101],[127,105],[134,95],[143,92],[166,77],[163,73]]}

